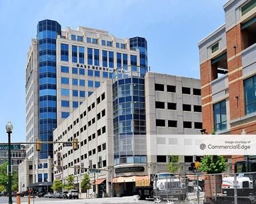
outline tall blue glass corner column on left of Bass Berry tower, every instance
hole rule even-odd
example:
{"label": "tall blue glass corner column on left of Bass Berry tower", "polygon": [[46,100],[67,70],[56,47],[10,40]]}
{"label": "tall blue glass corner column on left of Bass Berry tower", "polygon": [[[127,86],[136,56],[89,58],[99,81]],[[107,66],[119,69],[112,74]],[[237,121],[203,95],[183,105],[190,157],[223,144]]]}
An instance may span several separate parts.
{"label": "tall blue glass corner column on left of Bass Berry tower", "polygon": [[[56,94],[56,39],[61,35],[61,25],[44,20],[37,25],[38,82],[39,82],[39,139],[53,141],[53,129],[57,127]],[[53,157],[53,144],[42,144],[39,159]]]}

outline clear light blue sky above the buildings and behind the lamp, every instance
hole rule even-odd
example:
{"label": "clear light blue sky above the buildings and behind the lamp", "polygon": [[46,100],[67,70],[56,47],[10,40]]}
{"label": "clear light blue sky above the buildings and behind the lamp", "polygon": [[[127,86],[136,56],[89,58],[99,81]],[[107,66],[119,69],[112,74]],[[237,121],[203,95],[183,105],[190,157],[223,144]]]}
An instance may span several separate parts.
{"label": "clear light blue sky above the buildings and behind the lamp", "polygon": [[197,43],[225,22],[226,1],[0,0],[0,142],[7,142],[9,120],[12,142],[25,142],[25,64],[38,21],[145,37],[151,71],[199,78]]}

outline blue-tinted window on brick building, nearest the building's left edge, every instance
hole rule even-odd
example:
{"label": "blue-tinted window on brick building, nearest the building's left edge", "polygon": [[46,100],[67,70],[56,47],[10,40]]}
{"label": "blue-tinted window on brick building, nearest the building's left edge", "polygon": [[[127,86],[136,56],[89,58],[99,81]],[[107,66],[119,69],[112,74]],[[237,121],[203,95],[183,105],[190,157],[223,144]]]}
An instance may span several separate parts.
{"label": "blue-tinted window on brick building, nearest the building's left edge", "polygon": [[227,130],[227,112],[225,100],[213,105],[213,118],[215,132]]}

